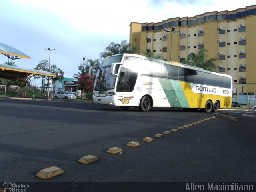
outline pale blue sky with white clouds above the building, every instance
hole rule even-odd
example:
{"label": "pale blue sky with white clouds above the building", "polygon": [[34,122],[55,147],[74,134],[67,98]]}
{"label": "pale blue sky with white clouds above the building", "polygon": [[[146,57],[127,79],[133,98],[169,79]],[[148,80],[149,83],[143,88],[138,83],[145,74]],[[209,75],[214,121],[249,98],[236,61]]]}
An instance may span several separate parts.
{"label": "pale blue sky with white clouds above the building", "polygon": [[[256,4],[255,0],[0,0],[0,43],[31,59],[13,60],[35,68],[42,60],[72,78],[87,59],[99,59],[111,43],[129,42],[131,22],[162,22],[205,12],[232,11]],[[0,54],[0,64],[8,58]],[[32,81],[40,86],[40,81]]]}

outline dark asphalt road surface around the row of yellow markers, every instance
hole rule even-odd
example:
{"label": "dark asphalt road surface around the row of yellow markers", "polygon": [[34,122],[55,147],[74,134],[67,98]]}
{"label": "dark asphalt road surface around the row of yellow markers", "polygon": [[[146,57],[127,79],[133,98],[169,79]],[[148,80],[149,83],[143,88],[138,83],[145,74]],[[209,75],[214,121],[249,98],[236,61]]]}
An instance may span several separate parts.
{"label": "dark asphalt road surface around the row of yellow markers", "polygon": [[[238,122],[204,112],[152,108],[122,111],[100,104],[0,98],[0,182],[254,182],[255,118]],[[144,142],[145,137],[154,141]],[[140,146],[126,146],[137,141]],[[120,154],[109,154],[120,147]],[[92,164],[78,160],[99,158]],[[41,180],[56,166],[64,173]]]}

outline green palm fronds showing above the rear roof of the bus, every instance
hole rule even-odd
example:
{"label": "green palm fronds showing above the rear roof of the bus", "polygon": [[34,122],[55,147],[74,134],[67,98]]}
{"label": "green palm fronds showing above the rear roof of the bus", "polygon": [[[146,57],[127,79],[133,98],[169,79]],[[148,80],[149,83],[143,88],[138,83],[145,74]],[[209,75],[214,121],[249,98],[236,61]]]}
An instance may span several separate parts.
{"label": "green palm fronds showing above the rear roof of the bus", "polygon": [[187,60],[183,60],[182,63],[203,68],[208,71],[217,71],[216,62],[222,63],[217,57],[206,60],[208,50],[200,49],[196,54],[190,53]]}

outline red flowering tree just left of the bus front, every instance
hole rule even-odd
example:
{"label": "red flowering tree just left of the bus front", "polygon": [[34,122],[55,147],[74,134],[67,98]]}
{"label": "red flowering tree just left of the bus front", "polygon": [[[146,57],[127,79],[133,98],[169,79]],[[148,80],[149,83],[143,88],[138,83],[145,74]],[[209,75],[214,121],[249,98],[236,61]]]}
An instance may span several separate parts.
{"label": "red flowering tree just left of the bus front", "polygon": [[78,89],[85,93],[92,92],[94,86],[95,77],[89,76],[87,73],[80,76],[78,80]]}

